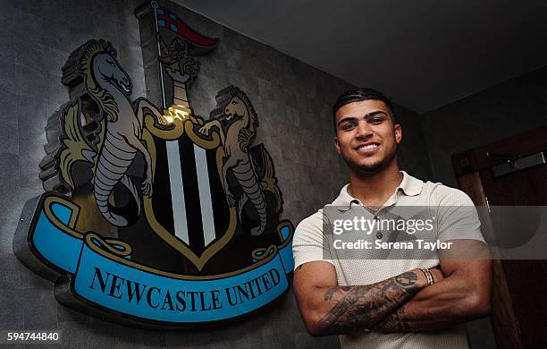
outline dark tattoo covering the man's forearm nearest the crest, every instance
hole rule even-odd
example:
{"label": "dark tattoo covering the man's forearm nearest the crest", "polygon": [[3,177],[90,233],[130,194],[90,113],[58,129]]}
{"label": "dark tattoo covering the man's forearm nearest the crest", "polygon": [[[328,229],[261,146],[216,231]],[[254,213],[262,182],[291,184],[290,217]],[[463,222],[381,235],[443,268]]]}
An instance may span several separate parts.
{"label": "dark tattoo covering the man's forearm nearest the crest", "polygon": [[[414,271],[373,285],[332,287],[324,293],[324,300],[335,303],[319,321],[319,326],[331,334],[370,328],[420,289]],[[390,321],[394,322],[392,327],[402,326],[395,323],[397,319]]]}

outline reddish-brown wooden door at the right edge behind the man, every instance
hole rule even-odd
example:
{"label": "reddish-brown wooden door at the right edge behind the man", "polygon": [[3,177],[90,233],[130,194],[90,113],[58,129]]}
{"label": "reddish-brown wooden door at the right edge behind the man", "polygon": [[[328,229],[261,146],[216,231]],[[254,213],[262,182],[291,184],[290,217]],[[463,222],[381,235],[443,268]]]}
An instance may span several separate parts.
{"label": "reddish-brown wooden door at the right edge behind the man", "polygon": [[[452,164],[477,206],[547,206],[546,150],[547,126],[456,154]],[[485,239],[494,241],[489,217],[481,221]],[[498,347],[547,348],[547,261],[494,260],[493,273]]]}

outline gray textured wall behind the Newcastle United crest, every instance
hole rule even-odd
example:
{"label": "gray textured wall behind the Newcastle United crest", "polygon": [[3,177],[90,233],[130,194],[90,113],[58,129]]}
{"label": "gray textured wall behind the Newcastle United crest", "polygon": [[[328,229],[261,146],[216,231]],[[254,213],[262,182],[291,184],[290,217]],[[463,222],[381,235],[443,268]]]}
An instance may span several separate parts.
{"label": "gray textured wall behind the Newcastle United crest", "polygon": [[[307,336],[290,292],[273,309],[228,328],[162,332],[125,328],[64,308],[53,285],[15,259],[13,233],[26,200],[43,192],[38,163],[45,152],[48,115],[68,99],[61,66],[89,38],[117,48],[133,81],[133,98],[146,95],[139,1],[0,1],[0,328],[62,329],[63,346],[335,347],[335,337]],[[215,55],[200,58],[202,71],[189,91],[200,115],[215,106],[215,92],[235,84],[248,92],[264,142],[275,162],[285,199],[284,217],[295,223],[332,200],[346,180],[332,149],[331,104],[349,84],[287,55],[185,12],[194,28],[221,38]],[[430,178],[418,115],[397,108],[405,140],[402,167]]]}

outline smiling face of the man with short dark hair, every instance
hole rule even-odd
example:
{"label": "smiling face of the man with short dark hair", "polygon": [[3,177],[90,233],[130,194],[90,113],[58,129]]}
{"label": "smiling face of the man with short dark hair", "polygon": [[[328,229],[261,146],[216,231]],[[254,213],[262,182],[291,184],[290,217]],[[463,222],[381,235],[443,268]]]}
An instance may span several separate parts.
{"label": "smiling face of the man with short dark hair", "polygon": [[338,109],[334,146],[351,170],[374,174],[395,159],[401,132],[390,113],[385,103],[372,99]]}

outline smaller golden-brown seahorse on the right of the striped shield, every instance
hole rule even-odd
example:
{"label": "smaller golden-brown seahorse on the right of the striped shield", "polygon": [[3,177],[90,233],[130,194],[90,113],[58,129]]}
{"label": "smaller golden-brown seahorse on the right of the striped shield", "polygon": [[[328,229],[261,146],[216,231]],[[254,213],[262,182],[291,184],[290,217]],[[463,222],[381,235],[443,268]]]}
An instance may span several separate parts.
{"label": "smaller golden-brown seahorse on the right of the striped shield", "polygon": [[248,200],[252,202],[257,209],[260,225],[253,227],[250,234],[260,235],[264,233],[266,226],[265,194],[248,153],[248,144],[255,136],[258,125],[257,113],[245,92],[233,86],[229,90],[231,99],[223,111],[224,119],[230,122],[226,134],[224,135],[222,125],[217,119],[205,123],[198,132],[207,135],[211,128],[218,128],[226,156],[222,170],[226,201],[230,206],[236,204],[227,179],[228,170],[231,169],[243,190],[243,195],[238,201],[238,212],[241,215],[245,203]]}

